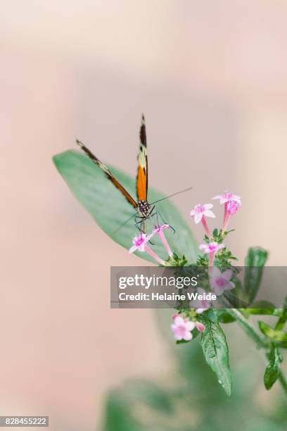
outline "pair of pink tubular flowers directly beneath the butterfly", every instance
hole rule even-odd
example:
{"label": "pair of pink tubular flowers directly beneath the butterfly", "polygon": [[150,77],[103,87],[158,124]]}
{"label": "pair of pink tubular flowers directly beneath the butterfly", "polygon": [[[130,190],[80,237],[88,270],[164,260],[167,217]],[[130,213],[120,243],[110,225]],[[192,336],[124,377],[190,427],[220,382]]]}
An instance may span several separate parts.
{"label": "pair of pink tubular flowers directly beneath the butterfly", "polygon": [[132,240],[133,245],[129,249],[129,253],[134,253],[134,251],[136,250],[141,252],[146,251],[146,253],[148,253],[152,258],[154,258],[155,261],[160,263],[160,265],[165,265],[165,261],[162,258],[160,258],[160,256],[158,256],[158,254],[156,254],[155,251],[153,251],[150,246],[148,246],[148,242],[153,237],[153,235],[158,235],[160,237],[160,240],[163,246],[165,246],[167,254],[170,257],[172,257],[173,253],[172,253],[172,250],[170,249],[167,239],[165,238],[165,233],[164,233],[164,230],[168,229],[169,227],[170,227],[169,225],[156,226],[150,235],[146,235],[145,233],[141,232],[138,236],[135,236],[133,238]]}

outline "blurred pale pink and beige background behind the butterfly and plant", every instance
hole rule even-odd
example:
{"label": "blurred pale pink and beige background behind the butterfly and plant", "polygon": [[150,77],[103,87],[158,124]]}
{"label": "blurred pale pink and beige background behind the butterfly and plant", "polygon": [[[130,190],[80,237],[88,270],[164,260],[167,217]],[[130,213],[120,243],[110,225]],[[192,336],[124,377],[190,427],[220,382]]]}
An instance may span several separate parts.
{"label": "blurred pale pink and beige background behind the butterfly and plant", "polygon": [[[260,245],[269,265],[286,264],[286,19],[283,0],[1,2],[1,415],[95,430],[110,388],[174,367],[153,311],[110,310],[110,266],[144,261],[101,232],[56,172],[51,157],[75,136],[134,175],[144,112],[150,184],[193,185],[173,199],[186,219],[229,188],[243,201],[229,237],[239,263]],[[263,373],[228,330],[241,346],[234,372],[250,358]],[[250,385],[257,406],[280,390]]]}

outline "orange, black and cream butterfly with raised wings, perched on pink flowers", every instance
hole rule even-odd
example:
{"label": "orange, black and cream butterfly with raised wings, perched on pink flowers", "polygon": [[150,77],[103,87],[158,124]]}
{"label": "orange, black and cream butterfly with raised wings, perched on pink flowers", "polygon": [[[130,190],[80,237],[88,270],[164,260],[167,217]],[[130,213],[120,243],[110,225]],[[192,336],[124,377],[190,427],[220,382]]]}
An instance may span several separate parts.
{"label": "orange, black and cream butterfly with raised wings, perched on pink flowers", "polygon": [[[106,174],[108,180],[113,182],[113,185],[125,196],[130,205],[134,207],[136,213],[132,215],[135,218],[135,225],[141,232],[146,233],[146,220],[155,216],[158,225],[158,213],[155,209],[155,202],[148,203],[148,155],[146,149],[146,121],[144,114],[141,116],[141,127],[139,130],[139,155],[138,155],[138,169],[136,175],[136,196],[135,200],[125,187],[117,180],[115,175],[110,172],[106,165],[104,165],[81,141],[77,139],[77,144],[84,151],[91,160],[98,165],[101,170]],[[131,217],[131,218],[132,218]],[[129,218],[130,220],[130,218]],[[127,221],[129,221],[127,220]]]}

